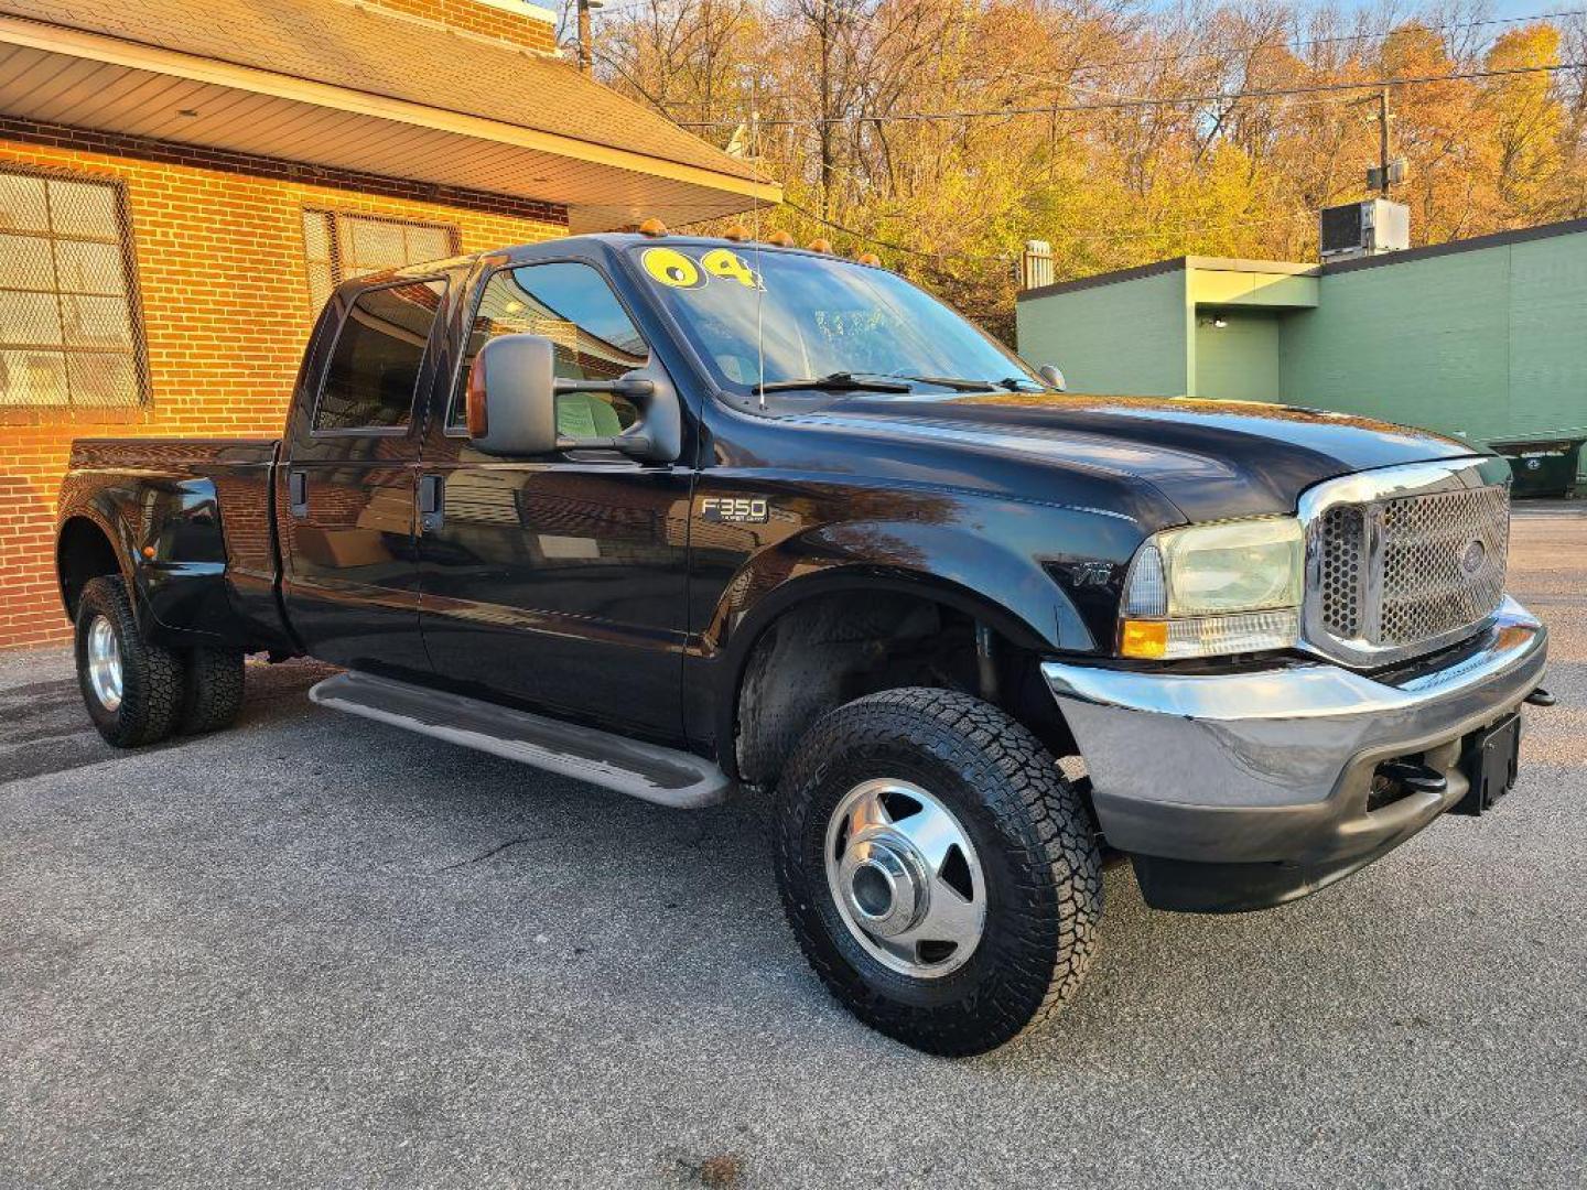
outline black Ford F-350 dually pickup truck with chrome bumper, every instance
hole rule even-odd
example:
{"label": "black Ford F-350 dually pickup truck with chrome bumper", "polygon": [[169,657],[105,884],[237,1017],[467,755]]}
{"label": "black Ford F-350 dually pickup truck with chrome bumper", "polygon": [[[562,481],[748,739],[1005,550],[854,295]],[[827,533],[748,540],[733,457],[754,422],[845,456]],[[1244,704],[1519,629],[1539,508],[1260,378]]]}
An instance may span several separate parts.
{"label": "black Ford F-350 dually pickup truck with chrome bumper", "polygon": [[279,441],[76,443],[59,574],[113,744],[311,655],[324,706],[763,792],[820,979],[973,1054],[1074,995],[1105,862],[1266,908],[1504,793],[1508,532],[1462,441],[1066,395],[873,262],[603,235],[346,282]]}

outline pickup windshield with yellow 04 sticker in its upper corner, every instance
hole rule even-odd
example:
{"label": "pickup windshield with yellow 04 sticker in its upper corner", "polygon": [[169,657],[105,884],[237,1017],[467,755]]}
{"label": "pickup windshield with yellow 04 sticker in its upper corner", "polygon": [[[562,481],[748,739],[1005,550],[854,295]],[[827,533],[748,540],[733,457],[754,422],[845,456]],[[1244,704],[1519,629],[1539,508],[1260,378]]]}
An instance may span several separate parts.
{"label": "pickup windshield with yellow 04 sticker in its upper corner", "polygon": [[[936,298],[881,268],[752,244],[640,244],[640,271],[717,384],[836,387],[886,397],[970,389],[1036,390],[1030,368]],[[900,384],[865,384],[903,378]]]}

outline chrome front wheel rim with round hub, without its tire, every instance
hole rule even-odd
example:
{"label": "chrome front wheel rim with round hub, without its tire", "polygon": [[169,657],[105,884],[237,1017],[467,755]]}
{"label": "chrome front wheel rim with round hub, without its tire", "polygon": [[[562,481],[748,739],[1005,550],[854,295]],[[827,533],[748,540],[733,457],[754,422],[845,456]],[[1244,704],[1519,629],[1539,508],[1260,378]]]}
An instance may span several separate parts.
{"label": "chrome front wheel rim with round hub, without its tire", "polygon": [[981,942],[986,882],[965,828],[909,781],[865,781],[827,822],[827,887],[843,923],[884,966],[957,971]]}

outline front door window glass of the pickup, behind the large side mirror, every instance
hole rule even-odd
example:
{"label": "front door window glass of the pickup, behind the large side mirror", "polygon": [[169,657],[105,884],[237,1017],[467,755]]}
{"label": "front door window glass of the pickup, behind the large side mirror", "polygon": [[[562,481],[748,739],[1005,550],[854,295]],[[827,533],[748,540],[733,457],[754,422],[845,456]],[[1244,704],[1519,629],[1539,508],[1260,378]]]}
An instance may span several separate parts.
{"label": "front door window glass of the pickup, behind the large side mirror", "polygon": [[[543,335],[557,346],[557,376],[609,381],[651,357],[628,313],[592,267],[573,262],[501,270],[486,282],[468,333],[448,427],[463,425],[468,367],[497,335]],[[638,411],[605,392],[562,393],[557,430],[568,438],[605,438],[628,428]]]}

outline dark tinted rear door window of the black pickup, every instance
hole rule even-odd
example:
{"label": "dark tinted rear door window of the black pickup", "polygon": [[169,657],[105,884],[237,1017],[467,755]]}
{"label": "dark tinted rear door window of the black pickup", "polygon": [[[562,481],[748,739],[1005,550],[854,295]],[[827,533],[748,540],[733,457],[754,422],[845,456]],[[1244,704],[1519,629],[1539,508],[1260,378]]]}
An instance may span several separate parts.
{"label": "dark tinted rear door window of the black pickup", "polygon": [[314,432],[400,428],[446,294],[444,281],[405,281],[359,295],[341,324],[314,408]]}

